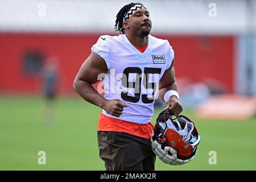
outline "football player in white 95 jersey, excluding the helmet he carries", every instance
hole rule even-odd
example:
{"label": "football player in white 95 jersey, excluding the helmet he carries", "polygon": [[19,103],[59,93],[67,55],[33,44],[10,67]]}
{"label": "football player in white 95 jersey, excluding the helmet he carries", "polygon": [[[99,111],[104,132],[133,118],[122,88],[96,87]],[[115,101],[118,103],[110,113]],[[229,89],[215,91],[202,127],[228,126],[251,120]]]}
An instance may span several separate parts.
{"label": "football player in white 95 jersey, excluding the helmet he carries", "polygon": [[[106,170],[154,170],[150,142],[154,100],[161,98],[164,109],[176,115],[183,110],[174,50],[167,40],[151,36],[151,28],[150,13],[141,3],[122,7],[115,20],[115,31],[121,34],[100,36],[74,81],[76,92],[102,109],[98,148]],[[106,73],[104,97],[92,86],[101,73]]]}

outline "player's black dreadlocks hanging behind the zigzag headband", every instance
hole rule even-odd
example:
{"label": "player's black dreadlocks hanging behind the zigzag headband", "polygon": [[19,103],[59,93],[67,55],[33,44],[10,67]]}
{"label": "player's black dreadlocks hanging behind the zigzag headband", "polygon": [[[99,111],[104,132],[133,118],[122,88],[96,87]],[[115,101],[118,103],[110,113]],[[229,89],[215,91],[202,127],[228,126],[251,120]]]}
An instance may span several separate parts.
{"label": "player's black dreadlocks hanging behind the zigzag headband", "polygon": [[[142,5],[141,3],[130,3],[129,5],[125,5],[122,9],[118,12],[117,16],[115,16],[115,31],[119,31],[120,34],[125,34],[125,28],[123,28],[123,18],[125,14],[133,7],[134,5]],[[143,5],[142,5],[143,6]]]}

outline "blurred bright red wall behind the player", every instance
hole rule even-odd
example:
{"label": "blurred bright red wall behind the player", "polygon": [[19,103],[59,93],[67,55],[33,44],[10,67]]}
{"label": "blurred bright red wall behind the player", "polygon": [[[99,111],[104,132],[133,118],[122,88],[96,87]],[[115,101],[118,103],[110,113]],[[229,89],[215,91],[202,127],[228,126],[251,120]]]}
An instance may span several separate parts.
{"label": "blurred bright red wall behind the player", "polygon": [[[27,50],[56,56],[60,66],[61,93],[73,92],[73,79],[90,48],[100,35],[88,34],[0,34],[0,92],[40,92],[38,76],[23,73],[22,56]],[[171,36],[175,51],[176,77],[193,82],[216,78],[233,91],[234,38],[232,36]]]}

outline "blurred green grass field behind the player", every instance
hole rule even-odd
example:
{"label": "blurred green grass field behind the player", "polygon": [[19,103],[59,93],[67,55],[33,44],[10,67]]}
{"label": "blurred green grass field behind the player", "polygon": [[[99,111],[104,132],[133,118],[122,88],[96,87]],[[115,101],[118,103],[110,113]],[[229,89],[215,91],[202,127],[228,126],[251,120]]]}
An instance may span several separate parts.
{"label": "blurred green grass field behind the player", "polygon": [[[80,98],[61,98],[56,102],[56,122],[47,123],[42,98],[0,97],[0,169],[105,170],[97,147],[100,112]],[[256,170],[255,117],[203,121],[192,112],[183,114],[193,119],[199,130],[197,156],[183,166],[156,159],[156,170]],[[46,165],[38,164],[39,151],[46,152]],[[209,151],[216,151],[216,165],[209,164]]]}

